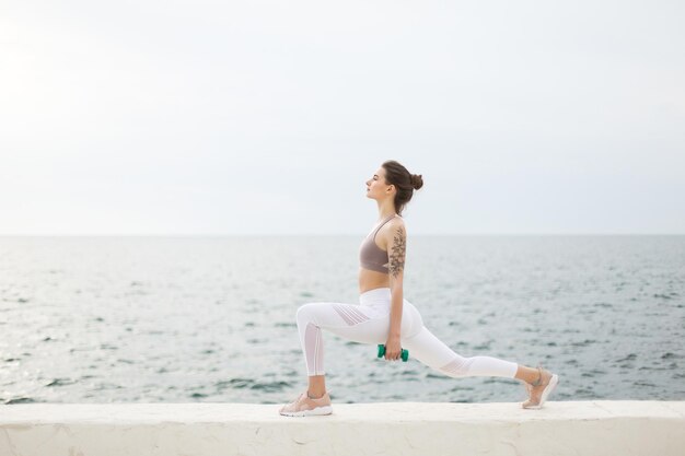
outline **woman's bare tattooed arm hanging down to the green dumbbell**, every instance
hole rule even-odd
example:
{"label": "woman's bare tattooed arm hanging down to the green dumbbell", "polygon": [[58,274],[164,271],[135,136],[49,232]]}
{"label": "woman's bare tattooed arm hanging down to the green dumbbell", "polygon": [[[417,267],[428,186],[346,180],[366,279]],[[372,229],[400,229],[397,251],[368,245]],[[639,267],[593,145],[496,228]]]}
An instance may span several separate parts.
{"label": "woman's bare tattooed arm hanging down to the green dumbbell", "polygon": [[407,250],[407,233],[404,223],[399,223],[387,235],[387,273],[390,276],[391,311],[390,332],[385,343],[385,359],[397,360],[402,354],[399,329],[402,327],[402,304],[404,302],[403,280],[405,256]]}

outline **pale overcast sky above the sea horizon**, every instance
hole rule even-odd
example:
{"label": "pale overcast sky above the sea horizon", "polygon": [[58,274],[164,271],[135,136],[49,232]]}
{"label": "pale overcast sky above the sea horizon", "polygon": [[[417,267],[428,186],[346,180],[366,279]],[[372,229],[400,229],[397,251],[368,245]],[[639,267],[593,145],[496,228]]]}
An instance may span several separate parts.
{"label": "pale overcast sky above the sea horizon", "polygon": [[0,235],[685,234],[680,1],[0,0]]}

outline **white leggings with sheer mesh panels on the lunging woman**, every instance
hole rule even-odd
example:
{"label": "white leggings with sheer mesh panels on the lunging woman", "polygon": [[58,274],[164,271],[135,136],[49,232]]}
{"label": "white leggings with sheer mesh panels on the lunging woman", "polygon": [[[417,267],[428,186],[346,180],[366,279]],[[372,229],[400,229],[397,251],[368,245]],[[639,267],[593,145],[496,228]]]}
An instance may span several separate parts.
{"label": "white leggings with sheer mesh panels on the lunging woman", "polygon": [[[312,303],[298,308],[298,331],[307,375],[324,375],[322,329],[360,343],[385,343],[390,330],[391,291],[374,289],[359,296],[359,305]],[[490,376],[513,378],[519,365],[490,356],[464,358],[423,326],[421,315],[403,302],[400,343],[409,356],[451,377]]]}

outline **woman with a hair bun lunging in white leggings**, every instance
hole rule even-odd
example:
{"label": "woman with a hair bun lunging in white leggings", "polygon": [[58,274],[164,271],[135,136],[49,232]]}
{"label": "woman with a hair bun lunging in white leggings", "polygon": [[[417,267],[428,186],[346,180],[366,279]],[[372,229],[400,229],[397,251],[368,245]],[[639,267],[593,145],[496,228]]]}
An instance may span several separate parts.
{"label": "woman with a hair bun lunging in white leggings", "polygon": [[309,374],[309,388],[280,413],[289,417],[330,414],[326,393],[322,329],[361,343],[384,343],[385,359],[396,361],[402,349],[413,358],[451,377],[498,376],[525,382],[526,409],[542,408],[559,378],[537,367],[526,367],[490,356],[464,358],[433,336],[419,312],[404,300],[403,279],[407,234],[402,211],[414,190],[423,186],[420,175],[387,161],[367,182],[367,197],[379,206],[379,223],[361,244],[360,304],[312,303],[298,308],[300,342]]}

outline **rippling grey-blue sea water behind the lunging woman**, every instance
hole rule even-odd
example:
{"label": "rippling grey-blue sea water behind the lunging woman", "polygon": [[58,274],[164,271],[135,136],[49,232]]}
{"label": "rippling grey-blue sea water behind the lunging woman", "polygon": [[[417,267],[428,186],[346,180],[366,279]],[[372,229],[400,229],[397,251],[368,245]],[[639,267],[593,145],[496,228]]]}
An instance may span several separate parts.
{"label": "rippling grey-blue sea water behind the lunging woman", "polygon": [[[0,237],[0,404],[255,402],[306,385],[294,314],[358,303],[362,236]],[[405,297],[552,400],[685,399],[685,236],[414,236]],[[324,334],[337,402],[518,401]]]}

